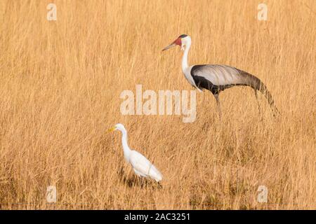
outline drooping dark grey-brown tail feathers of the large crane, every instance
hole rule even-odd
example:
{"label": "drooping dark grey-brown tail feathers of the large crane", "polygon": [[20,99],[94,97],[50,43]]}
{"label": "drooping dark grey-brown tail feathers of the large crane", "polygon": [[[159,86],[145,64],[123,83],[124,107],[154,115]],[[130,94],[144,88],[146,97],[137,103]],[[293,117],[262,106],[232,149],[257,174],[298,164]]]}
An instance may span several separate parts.
{"label": "drooping dark grey-brown tail feathers of the large crane", "polygon": [[244,76],[244,78],[246,79],[246,83],[248,86],[252,87],[254,90],[260,91],[265,96],[271,106],[273,116],[279,115],[279,110],[277,109],[277,106],[275,106],[272,95],[268,91],[268,88],[265,86],[265,84],[261,82],[259,78],[251,75],[250,73],[247,73],[246,71],[242,71],[241,75]]}

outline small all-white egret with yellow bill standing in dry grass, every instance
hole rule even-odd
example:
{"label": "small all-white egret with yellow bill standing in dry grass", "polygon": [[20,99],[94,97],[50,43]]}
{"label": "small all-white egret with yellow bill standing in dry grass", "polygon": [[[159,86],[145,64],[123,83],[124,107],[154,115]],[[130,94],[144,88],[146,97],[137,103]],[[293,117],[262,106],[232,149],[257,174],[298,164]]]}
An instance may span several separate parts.
{"label": "small all-white egret with yellow bill standing in dry grass", "polygon": [[126,162],[131,164],[136,175],[146,178],[154,179],[155,181],[162,181],[162,174],[159,170],[152,165],[152,163],[145,158],[144,155],[138,153],[138,151],[131,150],[127,144],[127,132],[122,124],[117,124],[110,128],[110,132],[114,130],[121,131],[121,144],[123,145],[124,158]]}

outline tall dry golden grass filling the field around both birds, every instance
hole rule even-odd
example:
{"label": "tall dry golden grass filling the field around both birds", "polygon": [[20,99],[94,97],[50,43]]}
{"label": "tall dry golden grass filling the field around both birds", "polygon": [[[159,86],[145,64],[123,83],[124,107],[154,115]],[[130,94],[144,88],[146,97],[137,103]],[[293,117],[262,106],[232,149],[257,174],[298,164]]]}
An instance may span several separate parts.
{"label": "tall dry golden grass filling the field around both birds", "polygon": [[[0,1],[1,209],[316,209],[316,4],[265,1]],[[273,118],[250,88],[225,90],[223,118],[197,93],[195,123],[182,116],[122,116],[121,91],[192,90],[190,64],[229,64],[268,86]],[[135,178],[121,134],[164,174]],[[58,203],[46,203],[55,185]],[[267,186],[268,204],[257,202]]]}

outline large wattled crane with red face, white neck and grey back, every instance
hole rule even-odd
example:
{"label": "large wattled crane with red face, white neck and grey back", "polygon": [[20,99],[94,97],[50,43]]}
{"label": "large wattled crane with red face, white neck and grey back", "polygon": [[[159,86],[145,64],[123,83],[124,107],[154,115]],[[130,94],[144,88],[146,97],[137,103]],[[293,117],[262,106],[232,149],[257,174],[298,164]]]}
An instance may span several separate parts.
{"label": "large wattled crane with red face, white neck and grey back", "polygon": [[[252,87],[255,91],[256,99],[258,102],[257,91],[260,91],[270,104],[272,111],[278,113],[277,107],[274,104],[272,95],[268,91],[267,87],[259,78],[246,71],[236,69],[232,66],[222,64],[198,64],[191,65],[187,63],[187,55],[189,54],[191,46],[191,38],[186,34],[180,35],[176,41],[173,41],[170,45],[166,46],[163,50],[172,48],[179,45],[181,50],[184,50],[182,58],[182,71],[187,81],[199,92],[203,89],[209,90],[216,99],[218,105],[218,111],[220,112],[220,101],[218,94],[220,91],[228,89],[237,85],[244,85]],[[259,104],[258,104],[259,106]],[[259,106],[260,110],[260,106]]]}

